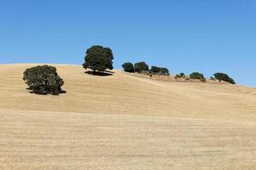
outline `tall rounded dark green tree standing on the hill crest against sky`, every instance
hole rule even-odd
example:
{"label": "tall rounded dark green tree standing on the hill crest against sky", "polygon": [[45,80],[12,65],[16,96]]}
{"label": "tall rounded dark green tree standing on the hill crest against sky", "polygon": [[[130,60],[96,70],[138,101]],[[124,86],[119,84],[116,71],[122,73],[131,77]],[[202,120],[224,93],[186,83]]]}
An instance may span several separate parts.
{"label": "tall rounded dark green tree standing on the hill crest against sky", "polygon": [[90,68],[93,71],[113,70],[113,53],[110,48],[92,46],[86,51],[84,57],[84,69]]}

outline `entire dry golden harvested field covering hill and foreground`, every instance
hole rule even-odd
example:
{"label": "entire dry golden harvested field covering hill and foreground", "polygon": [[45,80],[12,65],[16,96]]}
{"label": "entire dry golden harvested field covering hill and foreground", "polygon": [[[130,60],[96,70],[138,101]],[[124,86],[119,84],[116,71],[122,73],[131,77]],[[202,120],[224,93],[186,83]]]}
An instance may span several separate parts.
{"label": "entire dry golden harvested field covering hill and foreground", "polygon": [[256,89],[84,74],[67,94],[29,94],[0,65],[0,169],[256,169]]}

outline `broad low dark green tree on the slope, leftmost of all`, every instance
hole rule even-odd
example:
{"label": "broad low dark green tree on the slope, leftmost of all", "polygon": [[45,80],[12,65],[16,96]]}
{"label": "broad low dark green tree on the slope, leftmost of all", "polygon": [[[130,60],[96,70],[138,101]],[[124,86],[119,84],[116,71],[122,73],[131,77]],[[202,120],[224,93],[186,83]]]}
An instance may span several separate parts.
{"label": "broad low dark green tree on the slope, leftmost of all", "polygon": [[63,93],[61,86],[64,82],[54,66],[38,65],[30,69],[26,69],[23,73],[23,80],[26,81],[29,90],[34,94],[54,94]]}

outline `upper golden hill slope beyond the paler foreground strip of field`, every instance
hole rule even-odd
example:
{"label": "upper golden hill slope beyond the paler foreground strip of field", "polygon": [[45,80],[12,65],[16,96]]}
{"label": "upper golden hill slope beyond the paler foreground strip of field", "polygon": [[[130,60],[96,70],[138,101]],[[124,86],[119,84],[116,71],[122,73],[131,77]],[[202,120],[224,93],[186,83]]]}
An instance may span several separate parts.
{"label": "upper golden hill slope beyond the paler foreground strip of field", "polygon": [[22,73],[32,65],[0,66],[0,109],[99,114],[225,118],[256,121],[256,89],[196,82],[157,82],[84,74],[78,65],[55,65],[65,81],[61,96],[29,94]]}

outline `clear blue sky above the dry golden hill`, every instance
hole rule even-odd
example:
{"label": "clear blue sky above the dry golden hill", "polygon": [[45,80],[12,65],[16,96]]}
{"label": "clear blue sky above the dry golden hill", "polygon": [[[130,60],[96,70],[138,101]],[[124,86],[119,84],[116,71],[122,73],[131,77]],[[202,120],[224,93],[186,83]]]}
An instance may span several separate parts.
{"label": "clear blue sky above the dry golden hill", "polygon": [[0,63],[81,65],[86,48],[256,87],[255,0],[0,0]]}

